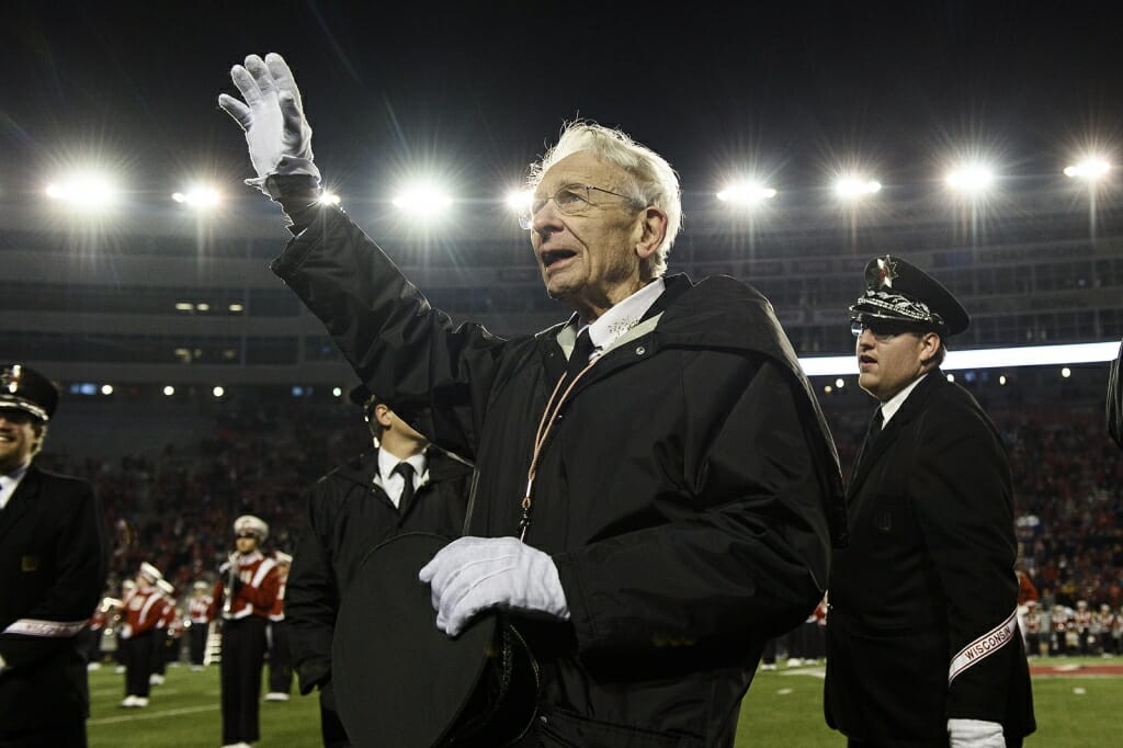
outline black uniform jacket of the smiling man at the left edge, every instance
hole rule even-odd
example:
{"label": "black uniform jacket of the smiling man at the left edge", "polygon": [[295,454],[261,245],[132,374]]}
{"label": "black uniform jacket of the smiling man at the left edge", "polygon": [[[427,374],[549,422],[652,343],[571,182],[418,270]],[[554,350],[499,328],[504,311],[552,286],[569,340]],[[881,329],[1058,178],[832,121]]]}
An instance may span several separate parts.
{"label": "black uniform jacket of the smiling man at the left edge", "polygon": [[[106,585],[93,487],[34,464],[0,510],[0,738],[89,713],[77,633]],[[0,740],[2,742],[2,740]]]}

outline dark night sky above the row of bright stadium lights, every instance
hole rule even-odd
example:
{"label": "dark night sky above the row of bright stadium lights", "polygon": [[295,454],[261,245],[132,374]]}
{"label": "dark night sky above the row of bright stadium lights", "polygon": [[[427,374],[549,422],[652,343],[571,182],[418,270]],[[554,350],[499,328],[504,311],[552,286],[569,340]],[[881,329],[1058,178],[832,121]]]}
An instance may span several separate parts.
{"label": "dark night sky above the row of bright stadium lights", "polygon": [[216,99],[250,52],[290,62],[317,162],[351,193],[420,165],[492,191],[578,116],[659,150],[694,191],[750,167],[798,190],[855,159],[915,182],[964,146],[1011,173],[1056,172],[1123,133],[1123,10],[1108,2],[40,1],[0,15],[9,200],[91,154],[139,190],[188,175],[239,189],[244,142]]}

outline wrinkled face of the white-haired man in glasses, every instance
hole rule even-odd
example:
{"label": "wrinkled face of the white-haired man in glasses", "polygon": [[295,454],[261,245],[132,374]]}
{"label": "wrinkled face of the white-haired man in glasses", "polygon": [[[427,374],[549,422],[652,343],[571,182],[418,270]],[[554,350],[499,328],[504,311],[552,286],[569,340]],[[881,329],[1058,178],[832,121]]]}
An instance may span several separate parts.
{"label": "wrinkled face of the white-haired man in glasses", "polygon": [[[587,152],[566,156],[542,176],[535,199],[547,200],[531,222],[531,244],[542,273],[546,292],[592,321],[641,285],[637,245],[642,237],[641,211],[626,198],[593,185],[626,193],[626,173],[597,161]],[[564,215],[548,200],[567,185],[575,195],[587,195],[592,204],[581,215]]]}

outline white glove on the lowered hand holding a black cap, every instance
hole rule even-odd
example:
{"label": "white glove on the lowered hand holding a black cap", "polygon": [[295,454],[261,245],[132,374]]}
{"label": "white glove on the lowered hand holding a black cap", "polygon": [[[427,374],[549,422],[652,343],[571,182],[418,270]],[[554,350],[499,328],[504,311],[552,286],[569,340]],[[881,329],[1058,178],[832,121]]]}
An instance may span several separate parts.
{"label": "white glove on the lowered hand holding a black cap", "polygon": [[503,608],[569,620],[554,559],[518,538],[460,538],[418,574],[432,586],[437,628],[457,636],[480,611]]}

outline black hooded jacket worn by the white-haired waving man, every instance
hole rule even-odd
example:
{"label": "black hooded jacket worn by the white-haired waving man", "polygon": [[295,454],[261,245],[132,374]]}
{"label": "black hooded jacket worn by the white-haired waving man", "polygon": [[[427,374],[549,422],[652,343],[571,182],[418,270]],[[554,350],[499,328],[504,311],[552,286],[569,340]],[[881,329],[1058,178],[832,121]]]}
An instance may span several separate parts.
{"label": "black hooded jacket worn by the white-haired waving man", "polygon": [[[573,326],[511,340],[454,327],[344,213],[320,216],[274,272],[372,392],[475,463],[468,533],[517,535]],[[841,478],[770,304],[729,277],[666,283],[539,458],[526,540],[553,556],[572,614],[515,621],[541,666],[544,745],[732,746],[764,641],[827,582]]]}

